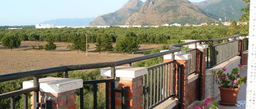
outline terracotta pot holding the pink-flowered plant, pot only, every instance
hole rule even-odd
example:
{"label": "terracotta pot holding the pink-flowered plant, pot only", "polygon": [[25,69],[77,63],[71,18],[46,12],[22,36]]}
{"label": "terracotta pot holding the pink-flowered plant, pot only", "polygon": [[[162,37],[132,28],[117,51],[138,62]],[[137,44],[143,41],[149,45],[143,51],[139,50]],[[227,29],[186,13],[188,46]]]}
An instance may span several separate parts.
{"label": "terracotta pot holding the pink-flowered plant, pot only", "polygon": [[219,91],[221,91],[221,101],[219,101],[219,103],[222,105],[237,104],[237,95],[239,90],[239,88],[219,87]]}

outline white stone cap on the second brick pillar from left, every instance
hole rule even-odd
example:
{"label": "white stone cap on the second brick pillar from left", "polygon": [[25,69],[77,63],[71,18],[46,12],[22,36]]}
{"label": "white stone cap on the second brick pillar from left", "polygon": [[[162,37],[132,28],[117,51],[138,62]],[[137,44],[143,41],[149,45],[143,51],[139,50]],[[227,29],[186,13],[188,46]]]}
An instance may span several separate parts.
{"label": "white stone cap on the second brick pillar from left", "polygon": [[[142,76],[148,73],[148,70],[145,67],[117,66],[115,69],[116,69],[116,77],[121,77],[121,78],[137,78],[139,76]],[[111,68],[110,67],[101,68],[100,75],[110,77]]]}

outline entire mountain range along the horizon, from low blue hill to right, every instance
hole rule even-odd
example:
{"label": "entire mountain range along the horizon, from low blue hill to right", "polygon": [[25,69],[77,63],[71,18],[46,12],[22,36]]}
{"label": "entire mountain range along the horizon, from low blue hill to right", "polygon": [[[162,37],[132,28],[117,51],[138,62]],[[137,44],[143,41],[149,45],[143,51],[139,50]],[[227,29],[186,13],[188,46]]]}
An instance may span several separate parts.
{"label": "entire mountain range along the horizon, from low blue hill to right", "polygon": [[242,0],[206,0],[192,3],[188,0],[129,0],[121,9],[97,18],[74,18],[45,21],[57,25],[162,25],[165,23],[218,22],[218,18],[239,20]]}

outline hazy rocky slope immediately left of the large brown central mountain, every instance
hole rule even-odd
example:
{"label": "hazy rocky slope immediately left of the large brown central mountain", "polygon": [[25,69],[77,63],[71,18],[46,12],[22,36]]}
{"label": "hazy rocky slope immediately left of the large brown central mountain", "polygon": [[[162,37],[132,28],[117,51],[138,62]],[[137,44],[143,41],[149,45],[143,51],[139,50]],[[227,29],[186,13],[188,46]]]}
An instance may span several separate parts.
{"label": "hazy rocky slope immediately left of the large brown central mountain", "polygon": [[121,25],[126,18],[140,9],[142,4],[143,2],[140,0],[129,0],[121,9],[110,14],[99,16],[89,25]]}

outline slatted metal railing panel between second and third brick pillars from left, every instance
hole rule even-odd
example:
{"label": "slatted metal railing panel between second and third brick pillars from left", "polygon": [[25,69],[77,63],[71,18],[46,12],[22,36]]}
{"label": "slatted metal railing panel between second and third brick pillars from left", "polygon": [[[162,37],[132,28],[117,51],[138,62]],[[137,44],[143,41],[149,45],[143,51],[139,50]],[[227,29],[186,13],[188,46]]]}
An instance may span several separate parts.
{"label": "slatted metal railing panel between second and third brick pillars from left", "polygon": [[[143,108],[154,108],[166,99],[174,97],[177,92],[174,84],[177,80],[175,75],[174,61],[160,63],[148,67],[148,73],[143,76]],[[175,86],[174,86],[175,85]],[[175,94],[176,93],[176,94]]]}

